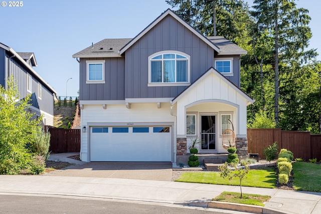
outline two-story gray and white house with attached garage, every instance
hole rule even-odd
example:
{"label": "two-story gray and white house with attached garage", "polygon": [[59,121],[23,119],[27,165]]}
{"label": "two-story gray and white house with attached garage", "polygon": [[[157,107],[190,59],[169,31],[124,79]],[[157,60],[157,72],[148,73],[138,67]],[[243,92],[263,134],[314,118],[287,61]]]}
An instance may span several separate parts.
{"label": "two-story gray and white house with attached garage", "polygon": [[[80,65],[81,160],[171,161],[227,153],[222,130],[247,153],[240,56],[222,37],[204,37],[170,9],[133,39],[105,39],[73,55]],[[186,157],[186,156],[185,156]]]}

